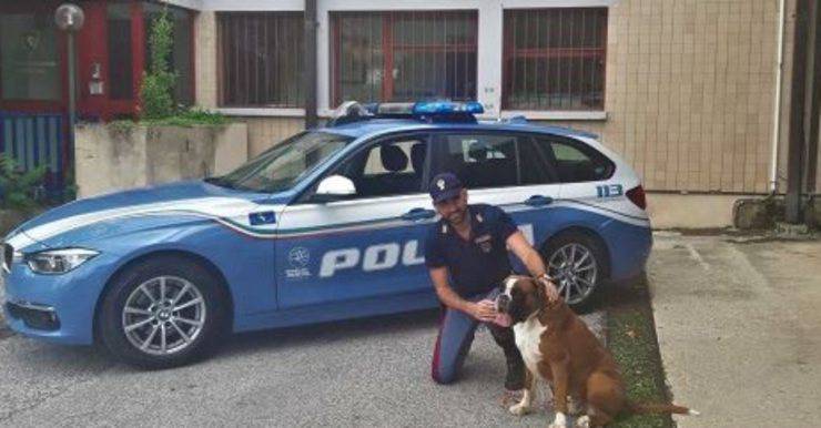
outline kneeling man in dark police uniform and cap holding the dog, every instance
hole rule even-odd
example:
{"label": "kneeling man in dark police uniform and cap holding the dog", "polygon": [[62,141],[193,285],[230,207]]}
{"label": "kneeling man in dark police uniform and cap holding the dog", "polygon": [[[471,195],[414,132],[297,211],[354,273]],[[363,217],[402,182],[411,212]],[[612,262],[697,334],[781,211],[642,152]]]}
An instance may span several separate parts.
{"label": "kneeling man in dark police uniform and cap holding the dog", "polygon": [[467,191],[452,173],[435,176],[429,193],[442,218],[428,231],[425,264],[444,306],[432,376],[439,384],[454,381],[478,323],[487,323],[507,359],[505,389],[519,390],[525,383],[525,366],[513,329],[504,322],[496,323],[500,315],[494,304],[501,281],[513,271],[507,248],[545,283],[551,300],[558,296],[556,287],[548,281],[541,256],[504,211],[485,204],[468,205]]}

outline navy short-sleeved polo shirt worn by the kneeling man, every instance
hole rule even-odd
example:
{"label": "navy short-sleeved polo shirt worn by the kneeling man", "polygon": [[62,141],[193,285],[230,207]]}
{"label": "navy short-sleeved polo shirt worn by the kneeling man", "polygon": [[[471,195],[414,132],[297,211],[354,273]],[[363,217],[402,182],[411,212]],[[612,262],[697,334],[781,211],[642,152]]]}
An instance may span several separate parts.
{"label": "navy short-sleeved polo shirt worn by the kneeling man", "polygon": [[517,228],[513,218],[491,205],[468,205],[470,238],[465,241],[442,218],[425,240],[425,265],[447,266],[454,291],[467,297],[489,291],[513,271],[506,241]]}

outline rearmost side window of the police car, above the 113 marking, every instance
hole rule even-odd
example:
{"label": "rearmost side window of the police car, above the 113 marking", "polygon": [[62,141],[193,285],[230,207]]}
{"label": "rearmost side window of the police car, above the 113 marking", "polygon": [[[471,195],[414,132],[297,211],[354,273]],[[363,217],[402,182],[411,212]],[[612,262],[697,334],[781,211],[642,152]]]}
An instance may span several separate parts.
{"label": "rearmost side window of the police car, above the 113 marking", "polygon": [[616,165],[592,147],[558,139],[539,139],[539,145],[550,151],[556,173],[562,183],[591,182],[609,179]]}

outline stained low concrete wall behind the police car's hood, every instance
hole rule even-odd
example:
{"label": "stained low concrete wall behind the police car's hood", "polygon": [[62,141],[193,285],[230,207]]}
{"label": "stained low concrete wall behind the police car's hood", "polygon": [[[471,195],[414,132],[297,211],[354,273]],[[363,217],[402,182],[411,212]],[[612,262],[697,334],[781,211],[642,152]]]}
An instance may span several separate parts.
{"label": "stained low concrete wall behind the police car's hood", "polygon": [[224,174],[247,161],[247,126],[75,128],[78,197]]}

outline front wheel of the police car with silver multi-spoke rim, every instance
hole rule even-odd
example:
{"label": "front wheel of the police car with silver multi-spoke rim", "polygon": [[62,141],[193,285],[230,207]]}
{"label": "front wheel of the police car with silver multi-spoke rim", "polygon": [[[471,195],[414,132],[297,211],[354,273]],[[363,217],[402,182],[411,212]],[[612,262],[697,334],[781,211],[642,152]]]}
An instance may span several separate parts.
{"label": "front wheel of the police car with silver multi-spoke rim", "polygon": [[202,358],[227,332],[227,298],[213,274],[186,258],[150,258],[118,275],[98,314],[100,338],[118,359],[168,368]]}

